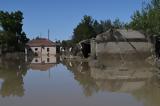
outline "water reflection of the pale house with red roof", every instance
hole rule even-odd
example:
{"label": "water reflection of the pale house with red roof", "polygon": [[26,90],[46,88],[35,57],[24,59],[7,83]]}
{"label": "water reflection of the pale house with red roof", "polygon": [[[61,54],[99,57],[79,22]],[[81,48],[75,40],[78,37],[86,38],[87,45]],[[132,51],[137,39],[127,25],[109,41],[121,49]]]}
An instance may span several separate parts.
{"label": "water reflection of the pale house with red roof", "polygon": [[32,70],[48,71],[50,68],[58,64],[58,57],[55,55],[43,55],[34,57],[29,64]]}

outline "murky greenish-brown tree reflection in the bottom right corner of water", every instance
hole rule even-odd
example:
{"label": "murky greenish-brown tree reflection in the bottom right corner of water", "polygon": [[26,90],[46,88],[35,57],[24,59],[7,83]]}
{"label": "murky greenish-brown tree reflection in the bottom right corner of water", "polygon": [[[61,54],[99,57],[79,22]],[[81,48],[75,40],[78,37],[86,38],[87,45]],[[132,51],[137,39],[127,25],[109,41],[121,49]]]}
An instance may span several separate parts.
{"label": "murky greenish-brown tree reflection in the bottom right corner of water", "polygon": [[159,80],[153,78],[150,81],[146,81],[144,86],[131,92],[131,94],[138,101],[144,101],[144,106],[159,106],[160,87],[158,83]]}

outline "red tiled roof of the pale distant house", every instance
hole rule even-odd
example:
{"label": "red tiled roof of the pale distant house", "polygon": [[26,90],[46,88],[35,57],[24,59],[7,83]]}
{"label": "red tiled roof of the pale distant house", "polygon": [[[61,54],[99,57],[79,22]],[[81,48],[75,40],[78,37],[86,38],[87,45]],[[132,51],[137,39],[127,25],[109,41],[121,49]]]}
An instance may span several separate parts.
{"label": "red tiled roof of the pale distant house", "polygon": [[31,47],[32,46],[55,46],[56,43],[54,43],[48,39],[40,38],[40,39],[31,40],[26,45],[31,46]]}

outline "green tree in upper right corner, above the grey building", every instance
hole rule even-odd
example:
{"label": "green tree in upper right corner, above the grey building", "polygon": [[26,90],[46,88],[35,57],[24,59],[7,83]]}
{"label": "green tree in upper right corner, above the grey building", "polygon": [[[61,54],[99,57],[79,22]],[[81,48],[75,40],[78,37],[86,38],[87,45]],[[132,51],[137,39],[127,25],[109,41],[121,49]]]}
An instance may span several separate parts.
{"label": "green tree in upper right corner, above the grey building", "polygon": [[130,27],[148,35],[160,35],[160,0],[151,0],[132,16]]}

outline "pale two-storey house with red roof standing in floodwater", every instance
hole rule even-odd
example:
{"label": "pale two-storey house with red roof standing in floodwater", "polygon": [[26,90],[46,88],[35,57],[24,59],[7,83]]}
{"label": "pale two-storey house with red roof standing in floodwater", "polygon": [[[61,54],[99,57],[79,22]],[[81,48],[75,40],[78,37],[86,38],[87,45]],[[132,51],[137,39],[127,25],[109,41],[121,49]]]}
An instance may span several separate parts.
{"label": "pale two-storey house with red roof standing in floodwater", "polygon": [[25,54],[56,55],[56,43],[45,38],[31,40],[26,44]]}

